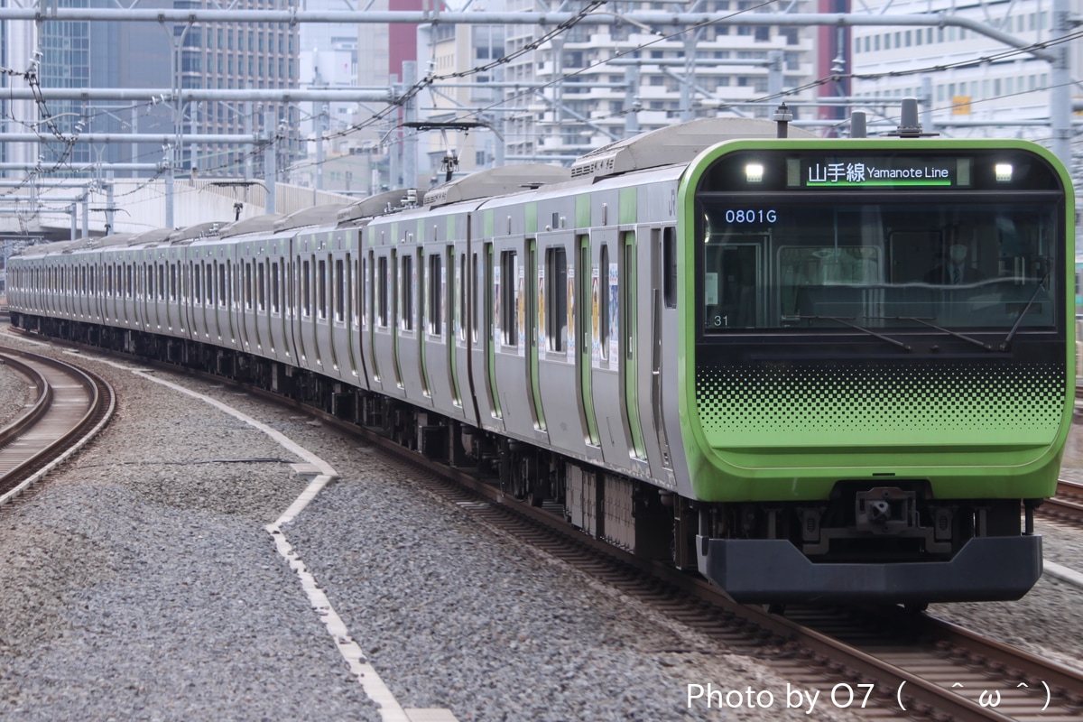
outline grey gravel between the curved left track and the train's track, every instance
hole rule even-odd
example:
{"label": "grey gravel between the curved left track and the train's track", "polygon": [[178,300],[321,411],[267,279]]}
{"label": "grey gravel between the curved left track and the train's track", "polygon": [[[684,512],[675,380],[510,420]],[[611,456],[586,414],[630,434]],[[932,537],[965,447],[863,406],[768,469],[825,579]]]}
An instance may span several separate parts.
{"label": "grey gravel between the curved left track and the train's track", "polygon": [[[380,720],[265,528],[305,488],[300,459],[206,403],[81,360],[119,409],[0,511],[0,717]],[[170,378],[335,468],[283,530],[404,708],[460,722],[853,719],[786,710],[786,680],[759,660],[488,529],[309,417]],[[689,706],[690,684],[774,703]]]}

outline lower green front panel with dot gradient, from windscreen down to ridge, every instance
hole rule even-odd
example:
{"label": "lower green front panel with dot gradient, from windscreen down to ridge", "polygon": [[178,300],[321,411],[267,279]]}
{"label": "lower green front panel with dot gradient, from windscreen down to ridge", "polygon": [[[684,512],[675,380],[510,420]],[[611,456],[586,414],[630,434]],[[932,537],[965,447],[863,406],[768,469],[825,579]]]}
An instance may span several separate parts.
{"label": "lower green front panel with dot gradient, from windscreen down to ridge", "polygon": [[1041,447],[1059,430],[1057,364],[701,366],[699,418],[716,449]]}

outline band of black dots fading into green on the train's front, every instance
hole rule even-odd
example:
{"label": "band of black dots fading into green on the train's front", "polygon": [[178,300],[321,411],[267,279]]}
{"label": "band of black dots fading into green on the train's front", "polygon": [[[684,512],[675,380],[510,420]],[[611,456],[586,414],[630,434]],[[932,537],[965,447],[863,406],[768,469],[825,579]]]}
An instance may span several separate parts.
{"label": "band of black dots fading into green on the train's front", "polygon": [[[979,432],[1057,429],[1065,367],[1055,364],[706,367],[696,372],[704,432]],[[768,441],[768,439],[765,439]]]}

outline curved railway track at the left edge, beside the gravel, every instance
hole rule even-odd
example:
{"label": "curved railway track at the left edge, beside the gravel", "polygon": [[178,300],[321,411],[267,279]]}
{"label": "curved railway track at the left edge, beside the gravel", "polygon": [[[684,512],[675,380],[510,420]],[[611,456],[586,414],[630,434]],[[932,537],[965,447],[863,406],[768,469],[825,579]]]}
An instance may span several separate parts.
{"label": "curved railway track at the left edge, beside the gravel", "polygon": [[2,506],[104,428],[115,399],[104,380],[70,364],[14,349],[0,349],[0,363],[26,376],[36,390],[27,411],[0,429]]}

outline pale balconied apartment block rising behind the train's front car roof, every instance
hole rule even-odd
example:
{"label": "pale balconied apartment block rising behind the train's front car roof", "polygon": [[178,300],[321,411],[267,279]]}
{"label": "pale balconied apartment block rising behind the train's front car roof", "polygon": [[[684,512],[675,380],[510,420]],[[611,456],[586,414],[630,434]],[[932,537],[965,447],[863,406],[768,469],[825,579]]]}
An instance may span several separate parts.
{"label": "pale balconied apartment block rising behind the train's front car roof", "polygon": [[[577,12],[589,3],[508,0],[510,12]],[[808,5],[804,8],[804,5]],[[794,12],[812,12],[797,2]],[[791,26],[731,25],[733,14],[756,13],[748,0],[705,0],[679,11],[709,13],[718,21],[694,28],[644,27],[626,17],[637,11],[674,10],[671,3],[617,2],[596,13],[608,25],[579,24],[551,38],[550,27],[507,25],[506,63],[480,77],[493,82],[503,103],[455,95],[429,117],[449,119],[484,115],[504,139],[506,162],[571,162],[602,145],[639,132],[715,115],[769,117],[781,100],[796,116],[812,117],[811,91],[792,92],[814,73],[813,35]],[[483,26],[431,34],[438,69],[465,70],[483,65]],[[457,43],[457,44],[454,44]],[[448,49],[454,48],[454,53]],[[454,82],[446,88],[455,88]],[[455,91],[458,92],[458,91]],[[454,106],[454,110],[452,109]],[[445,109],[447,108],[447,109]],[[458,115],[456,115],[456,113]],[[481,139],[481,135],[478,135]],[[435,153],[433,150],[433,153]],[[491,166],[500,154],[469,150],[474,165]],[[462,166],[466,168],[467,166]]]}

